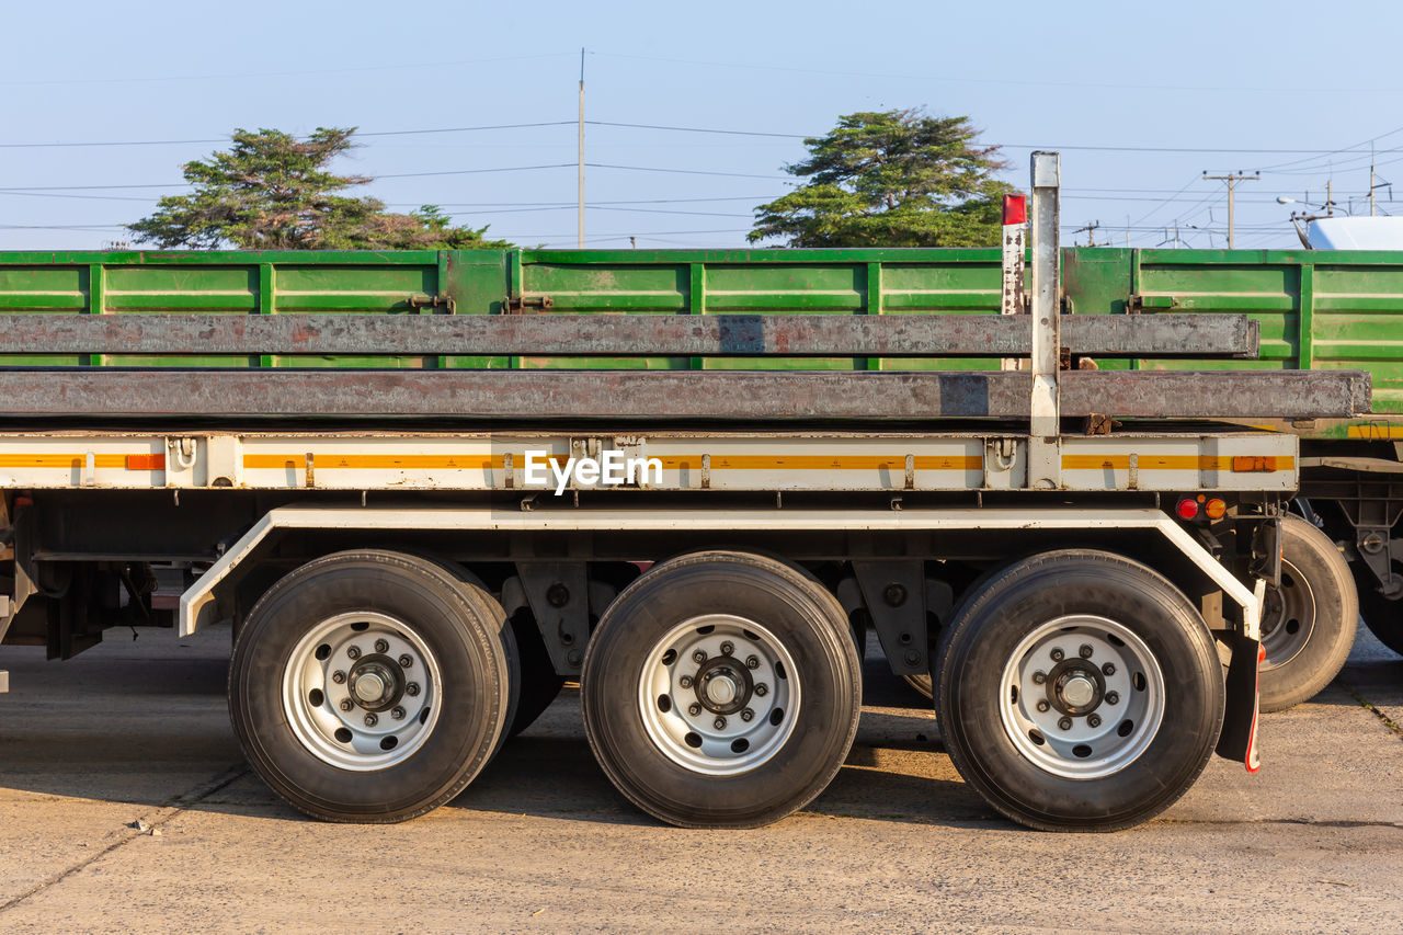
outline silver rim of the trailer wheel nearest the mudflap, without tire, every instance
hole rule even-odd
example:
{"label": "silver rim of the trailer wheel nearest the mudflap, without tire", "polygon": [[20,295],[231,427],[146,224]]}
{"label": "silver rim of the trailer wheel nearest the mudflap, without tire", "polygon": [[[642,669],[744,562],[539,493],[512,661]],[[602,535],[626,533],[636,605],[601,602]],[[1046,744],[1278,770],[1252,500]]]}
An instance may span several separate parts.
{"label": "silver rim of the trailer wheel nearest the mudflap, without tire", "polygon": [[1003,668],[1000,691],[1013,745],[1068,779],[1124,769],[1145,752],[1164,716],[1155,654],[1103,616],[1062,616],[1028,633]]}

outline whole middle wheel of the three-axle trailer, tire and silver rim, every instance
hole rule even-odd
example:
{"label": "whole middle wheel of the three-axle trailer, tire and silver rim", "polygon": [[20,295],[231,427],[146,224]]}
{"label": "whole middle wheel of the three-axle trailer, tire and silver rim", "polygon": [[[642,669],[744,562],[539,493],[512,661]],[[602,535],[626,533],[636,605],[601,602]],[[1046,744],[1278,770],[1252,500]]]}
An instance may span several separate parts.
{"label": "whole middle wheel of the three-axle trailer, tire and silver rim", "polygon": [[774,559],[700,552],[605,612],[585,731],[630,802],[682,827],[752,828],[808,804],[857,733],[861,661],[836,598]]}

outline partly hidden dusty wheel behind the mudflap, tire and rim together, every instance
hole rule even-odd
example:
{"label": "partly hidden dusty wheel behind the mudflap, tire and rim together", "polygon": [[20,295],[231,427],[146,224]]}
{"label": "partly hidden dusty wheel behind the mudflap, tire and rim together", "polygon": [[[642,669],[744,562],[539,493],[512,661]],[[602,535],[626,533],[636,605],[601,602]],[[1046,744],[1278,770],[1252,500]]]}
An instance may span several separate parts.
{"label": "partly hidden dusty wheel behind the mudflap, tire and rim together", "polygon": [[1288,514],[1281,524],[1281,587],[1261,612],[1261,710],[1315,698],[1338,674],[1360,618],[1350,564],[1315,524]]}

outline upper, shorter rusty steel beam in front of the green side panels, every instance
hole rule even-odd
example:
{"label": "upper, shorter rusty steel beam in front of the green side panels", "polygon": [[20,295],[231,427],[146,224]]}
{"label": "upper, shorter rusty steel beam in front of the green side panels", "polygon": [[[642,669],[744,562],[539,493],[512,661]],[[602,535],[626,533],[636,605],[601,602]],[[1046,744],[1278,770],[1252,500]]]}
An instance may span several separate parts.
{"label": "upper, shorter rusty steel beam in front of the green side panels", "polygon": [[[1257,355],[1246,314],[1061,317],[1080,355]],[[0,355],[1006,357],[1028,354],[1031,329],[1020,314],[0,314]]]}

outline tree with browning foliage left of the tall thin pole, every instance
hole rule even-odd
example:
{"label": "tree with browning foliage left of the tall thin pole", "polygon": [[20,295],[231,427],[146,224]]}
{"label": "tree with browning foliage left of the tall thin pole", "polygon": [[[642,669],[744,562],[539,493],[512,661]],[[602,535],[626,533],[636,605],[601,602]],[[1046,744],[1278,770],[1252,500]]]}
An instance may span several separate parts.
{"label": "tree with browning foliage left of the tall thin pole", "polygon": [[187,163],[188,195],[167,195],[128,225],[160,247],[212,250],[410,250],[509,247],[483,240],[487,227],[455,227],[436,205],[401,215],[376,198],[344,195],[370,181],[327,164],[352,149],[355,128],[317,128],[306,139],[281,131],[234,131],[229,152]]}

